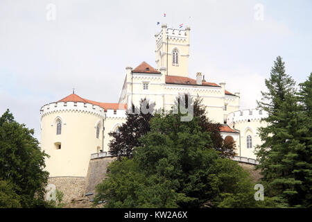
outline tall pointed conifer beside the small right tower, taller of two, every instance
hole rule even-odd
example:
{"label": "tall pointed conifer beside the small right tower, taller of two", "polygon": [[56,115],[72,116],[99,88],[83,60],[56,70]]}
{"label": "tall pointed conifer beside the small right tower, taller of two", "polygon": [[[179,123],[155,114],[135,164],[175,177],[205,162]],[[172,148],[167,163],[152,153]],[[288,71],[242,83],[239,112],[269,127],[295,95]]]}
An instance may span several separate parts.
{"label": "tall pointed conifer beside the small right tower, taller of two", "polygon": [[268,92],[261,92],[263,98],[258,101],[259,108],[268,112],[264,119],[268,126],[259,129],[263,144],[257,147],[257,169],[261,169],[266,194],[274,197],[279,207],[299,207],[303,203],[300,187],[305,179],[302,180],[299,171],[305,158],[302,154],[306,154],[303,139],[307,128],[294,86],[284,62],[277,57],[266,80]]}

